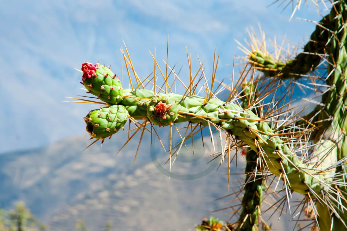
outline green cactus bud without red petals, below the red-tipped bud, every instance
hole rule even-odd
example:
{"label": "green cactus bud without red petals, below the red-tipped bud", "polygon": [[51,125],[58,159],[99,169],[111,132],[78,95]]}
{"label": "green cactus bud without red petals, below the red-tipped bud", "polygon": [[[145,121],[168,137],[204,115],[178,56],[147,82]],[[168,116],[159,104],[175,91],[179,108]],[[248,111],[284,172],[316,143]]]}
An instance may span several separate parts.
{"label": "green cactus bud without red petals, below the red-tipped bud", "polygon": [[84,121],[86,131],[96,139],[109,137],[118,132],[127,122],[128,111],[122,105],[112,105],[91,110]]}

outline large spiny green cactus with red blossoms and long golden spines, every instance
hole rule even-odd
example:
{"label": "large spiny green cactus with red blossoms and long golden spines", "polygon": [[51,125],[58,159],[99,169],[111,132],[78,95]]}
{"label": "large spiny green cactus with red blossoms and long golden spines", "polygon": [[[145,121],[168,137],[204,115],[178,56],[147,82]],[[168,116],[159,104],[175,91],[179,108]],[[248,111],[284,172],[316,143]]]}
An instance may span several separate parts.
{"label": "large spiny green cactus with red blossoms and long golden spines", "polygon": [[[195,75],[190,69],[188,86],[184,85],[174,73],[175,79],[177,78],[186,89],[183,95],[172,92],[172,87],[168,83],[168,71],[166,75],[162,73],[156,57],[153,55],[153,91],[146,89],[143,85],[145,81],[153,83],[151,80],[141,81],[137,76],[128,51],[128,58],[124,53],[123,56],[127,70],[128,65],[133,70],[137,82],[135,88],[129,70],[131,89],[124,89],[118,78],[115,78],[116,75],[113,75],[106,66],[99,63],[84,63],[82,65],[83,85],[88,93],[97,96],[102,102],[83,98],[78,98],[78,100],[104,105],[100,110],[92,110],[84,118],[87,131],[90,133],[91,139],[95,139],[93,143],[98,140],[104,142],[105,138],[118,132],[119,128],[122,128],[128,120],[129,132],[130,123],[136,126],[132,129],[135,132],[132,136],[129,135],[128,141],[138,131],[141,131],[140,146],[144,132],[149,131],[146,125],[150,125],[151,131],[149,132],[152,133],[153,130],[160,139],[155,131],[155,125],[169,127],[171,137],[172,127],[179,123],[188,123],[192,131],[189,135],[181,136],[184,137],[182,143],[184,143],[184,139],[196,134],[198,131],[195,130],[198,127],[200,130],[208,129],[211,135],[213,129],[220,134],[220,137],[225,138],[225,145],[221,145],[222,151],[217,153],[217,157],[220,157],[223,162],[224,158],[228,156],[228,168],[231,150],[240,148],[248,150],[245,194],[242,200],[242,212],[238,219],[238,230],[259,229],[267,172],[282,180],[283,189],[280,192],[284,192],[285,196],[280,201],[287,202],[290,213],[293,212],[290,198],[292,193],[296,192],[303,196],[302,211],[308,211],[308,208],[311,208],[312,227],[318,227],[322,231],[347,230],[347,213],[345,212],[347,211],[345,198],[347,193],[345,185],[347,158],[347,142],[345,141],[347,129],[346,22],[347,3],[335,1],[330,13],[323,17],[316,26],[310,41],[304,46],[303,52],[291,60],[280,60],[278,57],[273,57],[266,51],[266,47],[259,46],[259,42],[254,38],[253,46],[249,49],[242,47],[247,54],[245,58],[247,64],[236,85],[232,84],[232,87],[222,83],[219,85],[230,90],[230,95],[225,101],[218,99],[218,93],[215,93],[218,88],[216,90],[213,88],[218,65],[218,58],[215,62],[215,53],[210,86],[204,73],[202,73],[203,77],[194,83],[198,73],[203,70],[201,63],[200,69]],[[189,58],[188,61],[190,68]],[[282,111],[289,104],[283,103],[283,106],[279,107],[279,101],[287,96],[291,97],[290,89],[279,101],[275,101],[273,98],[270,102],[272,107],[269,104],[267,106],[261,104],[265,97],[275,94],[274,92],[279,89],[283,81],[304,79],[307,74],[315,74],[322,63],[325,63],[328,73],[324,77],[328,90],[324,92],[321,103],[317,103],[318,106],[311,113],[300,117],[297,114],[290,115],[289,109]],[[164,79],[162,86],[158,85],[157,67]],[[168,68],[169,65],[166,62],[166,70]],[[260,78],[254,78],[256,70],[262,73]],[[171,71],[173,72],[172,69]],[[252,88],[244,89],[243,93],[237,94],[248,73],[252,73],[250,85],[259,85],[259,92],[257,92],[259,96],[257,97],[254,97]],[[319,78],[323,79],[323,77]],[[202,88],[205,89],[205,96],[199,96],[195,90],[203,79],[205,83]],[[262,84],[261,81],[264,79],[270,79],[270,83]],[[278,87],[274,87],[276,81]],[[319,85],[316,84],[316,86]],[[113,90],[115,91],[113,92]],[[115,113],[115,108],[119,114]],[[112,116],[108,117],[108,113]],[[139,122],[140,120],[143,122]],[[98,125],[95,126],[96,124]],[[171,157],[179,152],[181,145],[172,146],[170,139],[170,169]],[[258,176],[256,172],[263,175]],[[256,180],[253,180],[251,184],[249,179]],[[301,213],[298,216],[300,217]],[[267,229],[266,227],[265,229]]]}

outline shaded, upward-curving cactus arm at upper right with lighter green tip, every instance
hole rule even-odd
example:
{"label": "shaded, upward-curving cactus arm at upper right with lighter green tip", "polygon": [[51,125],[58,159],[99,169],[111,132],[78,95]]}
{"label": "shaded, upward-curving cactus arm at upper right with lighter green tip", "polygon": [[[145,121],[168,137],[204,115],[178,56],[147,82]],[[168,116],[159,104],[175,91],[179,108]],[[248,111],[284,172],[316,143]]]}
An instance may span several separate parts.
{"label": "shaded, upward-curving cactus arm at upper right with lighter green tip", "polygon": [[[329,15],[328,15],[329,16]],[[304,46],[303,52],[299,53],[295,59],[286,63],[275,61],[271,56],[266,56],[261,52],[253,52],[249,55],[250,61],[261,70],[266,77],[278,77],[280,79],[299,79],[308,72],[314,70],[321,62],[325,45],[329,39],[326,27],[330,26],[329,17],[326,16],[316,26],[311,34],[310,41]]]}

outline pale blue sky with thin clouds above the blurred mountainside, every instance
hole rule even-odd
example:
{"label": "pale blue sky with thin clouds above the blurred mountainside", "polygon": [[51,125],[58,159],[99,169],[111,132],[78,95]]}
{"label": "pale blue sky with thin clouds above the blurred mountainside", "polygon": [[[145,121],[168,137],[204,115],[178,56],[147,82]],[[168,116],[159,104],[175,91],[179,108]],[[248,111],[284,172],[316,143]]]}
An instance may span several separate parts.
{"label": "pale blue sky with thin clouds above the blurred mountainside", "polygon": [[[166,58],[168,35],[171,66],[177,62],[187,67],[187,46],[193,66],[198,64],[198,53],[210,73],[216,45],[218,79],[230,75],[227,64],[234,54],[242,54],[234,39],[243,41],[246,28],[257,29],[260,23],[269,39],[276,35],[296,43],[307,41],[314,25],[297,19],[289,22],[290,9],[266,7],[271,2],[13,0],[2,4],[0,153],[84,134],[83,117],[90,106],[62,102],[65,96],[84,94],[81,74],[74,68],[100,60],[120,74],[122,39],[140,77],[153,70],[148,50],[153,53],[156,48],[159,60]],[[314,7],[303,6],[296,16],[320,19]],[[187,73],[183,70],[180,77]]]}

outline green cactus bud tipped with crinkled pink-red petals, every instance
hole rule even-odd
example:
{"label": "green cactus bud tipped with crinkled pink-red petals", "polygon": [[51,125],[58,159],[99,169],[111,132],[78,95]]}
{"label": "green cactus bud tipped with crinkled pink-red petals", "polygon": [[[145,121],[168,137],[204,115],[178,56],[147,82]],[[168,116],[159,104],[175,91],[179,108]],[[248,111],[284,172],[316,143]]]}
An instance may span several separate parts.
{"label": "green cactus bud tipped with crinkled pink-red petals", "polygon": [[84,87],[94,96],[108,104],[118,104],[123,97],[119,79],[104,65],[83,63],[82,81]]}

